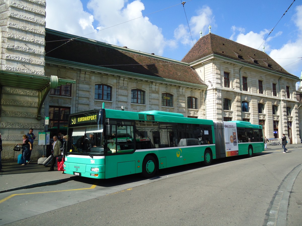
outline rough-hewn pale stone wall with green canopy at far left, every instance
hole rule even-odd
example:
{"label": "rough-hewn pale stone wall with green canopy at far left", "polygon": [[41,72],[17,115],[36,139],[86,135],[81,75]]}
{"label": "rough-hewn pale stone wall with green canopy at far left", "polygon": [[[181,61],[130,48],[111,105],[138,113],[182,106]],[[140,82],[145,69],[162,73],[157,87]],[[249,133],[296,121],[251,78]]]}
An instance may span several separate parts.
{"label": "rough-hewn pale stone wall with green canopy at far left", "polygon": [[[50,90],[45,76],[45,0],[0,1],[0,133],[2,160],[16,159],[13,146],[34,128],[44,130],[43,100]],[[59,79],[56,84],[65,84]],[[38,137],[38,136],[37,136]],[[32,158],[43,155],[34,142]]]}

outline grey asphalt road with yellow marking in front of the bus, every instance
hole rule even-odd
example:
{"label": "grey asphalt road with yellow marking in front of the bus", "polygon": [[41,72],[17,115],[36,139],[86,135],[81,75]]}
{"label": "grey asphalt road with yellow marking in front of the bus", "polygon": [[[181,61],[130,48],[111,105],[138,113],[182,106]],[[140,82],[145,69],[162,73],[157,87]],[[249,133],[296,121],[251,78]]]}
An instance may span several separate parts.
{"label": "grey asphalt road with yellow marking in front of the bus", "polygon": [[[281,205],[282,186],[301,164],[301,151],[224,159],[201,168],[192,164],[148,180],[139,175],[100,181],[79,177],[5,193],[10,198],[2,203],[1,218],[11,219],[7,225],[270,225],[271,213]],[[300,177],[297,181],[288,225],[302,222]],[[286,211],[279,214],[286,216]]]}

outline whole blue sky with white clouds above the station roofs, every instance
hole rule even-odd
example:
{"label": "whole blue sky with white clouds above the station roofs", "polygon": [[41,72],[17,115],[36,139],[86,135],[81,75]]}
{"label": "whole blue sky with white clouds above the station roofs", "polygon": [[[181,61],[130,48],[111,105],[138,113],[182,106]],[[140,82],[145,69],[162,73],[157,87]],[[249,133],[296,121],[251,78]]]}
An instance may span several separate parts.
{"label": "whole blue sky with white clouds above the station roofs", "polygon": [[184,6],[181,2],[48,0],[46,27],[181,60],[200,38],[199,32],[206,35],[211,25],[216,35],[259,50],[265,46],[268,55],[300,77],[301,1],[189,0]]}

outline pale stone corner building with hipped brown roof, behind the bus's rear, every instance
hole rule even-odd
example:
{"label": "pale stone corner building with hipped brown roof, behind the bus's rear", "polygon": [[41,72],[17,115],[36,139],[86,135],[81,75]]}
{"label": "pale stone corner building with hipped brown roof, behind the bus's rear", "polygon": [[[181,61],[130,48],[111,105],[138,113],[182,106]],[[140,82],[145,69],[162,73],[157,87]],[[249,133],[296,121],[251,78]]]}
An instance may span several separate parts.
{"label": "pale stone corner building with hipped brown roof, behind the bus's rear", "polygon": [[209,33],[182,61],[208,85],[207,119],[261,124],[267,138],[300,143],[296,83],[265,52]]}

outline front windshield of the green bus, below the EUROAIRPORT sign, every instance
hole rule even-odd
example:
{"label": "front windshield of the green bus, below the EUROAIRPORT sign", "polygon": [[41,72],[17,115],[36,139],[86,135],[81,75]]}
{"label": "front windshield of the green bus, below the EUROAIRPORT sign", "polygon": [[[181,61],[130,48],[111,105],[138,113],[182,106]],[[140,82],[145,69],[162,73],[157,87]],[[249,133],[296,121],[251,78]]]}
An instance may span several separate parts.
{"label": "front windshield of the green bus, below the EUROAIRPORT sign", "polygon": [[71,136],[71,152],[104,155],[103,126],[87,126],[73,128]]}

